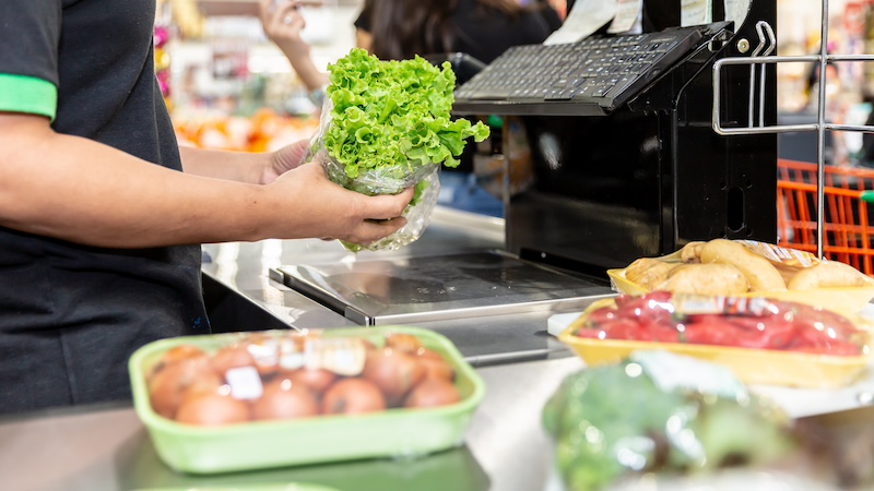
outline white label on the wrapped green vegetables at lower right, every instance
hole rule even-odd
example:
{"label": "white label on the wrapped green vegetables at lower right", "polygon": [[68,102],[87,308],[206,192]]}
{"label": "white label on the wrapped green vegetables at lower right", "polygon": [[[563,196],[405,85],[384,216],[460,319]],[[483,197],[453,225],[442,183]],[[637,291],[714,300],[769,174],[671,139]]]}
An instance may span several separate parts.
{"label": "white label on the wrapped green vegetables at lower right", "polygon": [[748,399],[746,387],[725,367],[669,351],[636,351],[629,357],[662,391],[692,391],[734,400]]}

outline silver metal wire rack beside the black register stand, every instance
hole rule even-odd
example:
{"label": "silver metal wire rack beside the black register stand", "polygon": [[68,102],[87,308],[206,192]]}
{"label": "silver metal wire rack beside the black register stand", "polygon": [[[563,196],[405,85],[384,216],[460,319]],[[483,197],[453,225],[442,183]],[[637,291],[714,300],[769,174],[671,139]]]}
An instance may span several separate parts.
{"label": "silver metal wire rack beside the black register stand", "polygon": [[[824,237],[825,237],[825,140],[827,131],[854,131],[874,133],[874,127],[834,124],[826,122],[826,70],[825,64],[829,61],[874,61],[874,55],[829,55],[827,50],[828,40],[828,0],[822,0],[822,32],[819,53],[811,56],[770,56],[777,46],[777,40],[771,26],[764,21],[756,23],[756,33],[759,37],[758,46],[751,52],[749,57],[730,57],[717,60],[713,63],[713,131],[721,135],[735,134],[763,134],[763,133],[789,133],[796,131],[817,132],[817,161],[816,161],[816,254],[823,258]],[[765,64],[781,62],[814,62],[819,65],[819,87],[817,93],[817,115],[816,122],[806,124],[776,124],[765,125],[763,103],[765,97]],[[724,128],[720,121],[720,81],[723,65],[748,64],[749,65],[749,119],[746,127]],[[760,70],[757,70],[760,68]],[[760,74],[757,72],[760,71]],[[758,75],[758,76],[757,76]],[[756,115],[756,80],[758,80],[758,115]],[[756,117],[757,116],[757,117]],[[866,224],[865,224],[866,225]]]}

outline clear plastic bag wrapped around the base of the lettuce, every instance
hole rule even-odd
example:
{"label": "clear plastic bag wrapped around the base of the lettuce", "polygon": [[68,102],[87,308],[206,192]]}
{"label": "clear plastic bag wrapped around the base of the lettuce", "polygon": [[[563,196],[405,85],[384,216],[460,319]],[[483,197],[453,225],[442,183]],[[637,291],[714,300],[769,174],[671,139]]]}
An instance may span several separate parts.
{"label": "clear plastic bag wrapped around the base of the lettuce", "polygon": [[355,178],[349,177],[345,165],[331,157],[324,148],[323,135],[331,123],[330,108],[331,100],[326,99],[319,122],[319,131],[312,136],[309,149],[310,157],[307,160],[318,157],[331,182],[368,196],[398,194],[406,188],[415,185],[413,200],[401,214],[406,218],[406,225],[395,232],[366,246],[342,240],[340,242],[346,250],[352,252],[363,250],[393,251],[415,242],[430,223],[432,213],[437,205],[437,196],[440,193],[440,166],[434,163],[417,164],[416,166],[398,165],[367,169],[358,172]]}

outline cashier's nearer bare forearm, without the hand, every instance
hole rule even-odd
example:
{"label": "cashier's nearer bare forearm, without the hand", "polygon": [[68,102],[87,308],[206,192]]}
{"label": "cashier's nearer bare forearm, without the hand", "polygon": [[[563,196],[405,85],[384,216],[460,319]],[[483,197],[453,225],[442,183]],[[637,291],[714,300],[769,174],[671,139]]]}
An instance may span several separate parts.
{"label": "cashier's nearer bare forearm, without the hand", "polygon": [[263,187],[189,176],[50,131],[0,133],[4,227],[116,248],[264,236]]}

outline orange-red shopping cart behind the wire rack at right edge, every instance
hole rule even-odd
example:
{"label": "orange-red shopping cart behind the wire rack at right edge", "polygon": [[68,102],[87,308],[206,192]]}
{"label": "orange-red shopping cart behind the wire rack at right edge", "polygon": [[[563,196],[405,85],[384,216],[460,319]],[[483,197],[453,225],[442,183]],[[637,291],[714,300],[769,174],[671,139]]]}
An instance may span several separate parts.
{"label": "orange-red shopping cart behind the wire rack at right edge", "polygon": [[[816,164],[777,163],[778,243],[816,253]],[[874,275],[872,231],[874,169],[824,167],[823,256]]]}

